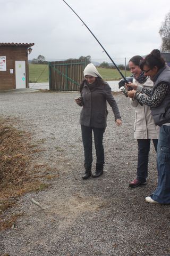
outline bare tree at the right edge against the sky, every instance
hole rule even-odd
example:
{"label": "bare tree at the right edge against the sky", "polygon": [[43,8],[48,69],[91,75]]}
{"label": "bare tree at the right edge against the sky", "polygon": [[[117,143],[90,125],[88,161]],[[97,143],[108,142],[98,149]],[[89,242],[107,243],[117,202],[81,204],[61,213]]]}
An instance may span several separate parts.
{"label": "bare tree at the right edge against the sky", "polygon": [[165,20],[159,29],[160,37],[162,38],[162,51],[170,51],[170,12],[165,16]]}

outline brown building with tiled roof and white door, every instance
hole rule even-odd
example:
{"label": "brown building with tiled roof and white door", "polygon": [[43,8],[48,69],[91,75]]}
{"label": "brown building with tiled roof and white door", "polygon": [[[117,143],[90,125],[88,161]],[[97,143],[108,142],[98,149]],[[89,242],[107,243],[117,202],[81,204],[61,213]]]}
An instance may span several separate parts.
{"label": "brown building with tiled roof and white door", "polygon": [[0,90],[29,87],[28,54],[34,43],[0,43]]}

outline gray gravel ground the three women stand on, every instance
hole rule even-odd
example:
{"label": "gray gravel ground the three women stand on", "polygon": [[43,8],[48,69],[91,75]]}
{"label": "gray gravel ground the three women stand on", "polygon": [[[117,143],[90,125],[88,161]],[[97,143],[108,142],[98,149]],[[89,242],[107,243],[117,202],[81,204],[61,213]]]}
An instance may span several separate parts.
{"label": "gray gravel ground the three women stand on", "polygon": [[[0,233],[0,255],[170,255],[169,206],[145,202],[157,182],[153,146],[147,185],[128,187],[137,165],[129,100],[115,94],[123,125],[115,126],[109,107],[104,175],[84,181],[77,96],[77,92],[0,94],[1,116],[30,132],[33,142],[44,149],[36,153],[36,161],[60,174],[46,190],[24,195],[7,212],[22,215],[15,228]],[[94,167],[95,157],[93,171]],[[32,204],[31,197],[46,210]]]}

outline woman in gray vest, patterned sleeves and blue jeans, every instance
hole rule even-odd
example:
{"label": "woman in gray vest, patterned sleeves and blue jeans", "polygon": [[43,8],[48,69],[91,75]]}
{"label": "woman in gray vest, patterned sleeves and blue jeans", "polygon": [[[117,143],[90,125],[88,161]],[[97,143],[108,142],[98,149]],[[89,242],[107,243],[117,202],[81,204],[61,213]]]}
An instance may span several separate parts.
{"label": "woman in gray vest, patterned sleeves and blue jeans", "polygon": [[154,87],[148,89],[134,83],[126,84],[133,88],[128,96],[149,106],[155,124],[160,126],[157,146],[158,185],[154,193],[145,199],[152,204],[170,204],[170,68],[157,49],[141,61],[140,68],[145,75],[150,76]]}

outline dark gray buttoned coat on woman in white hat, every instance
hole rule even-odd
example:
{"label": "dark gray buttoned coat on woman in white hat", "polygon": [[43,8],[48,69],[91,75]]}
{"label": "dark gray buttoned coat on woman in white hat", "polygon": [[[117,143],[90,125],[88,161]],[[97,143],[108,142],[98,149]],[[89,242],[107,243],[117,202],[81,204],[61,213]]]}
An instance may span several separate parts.
{"label": "dark gray buttoned coat on woman in white hat", "polygon": [[83,107],[80,113],[80,124],[84,126],[105,128],[107,123],[107,102],[111,106],[116,119],[121,119],[117,103],[108,83],[97,83],[90,91],[87,83],[81,91]]}

